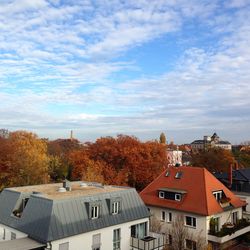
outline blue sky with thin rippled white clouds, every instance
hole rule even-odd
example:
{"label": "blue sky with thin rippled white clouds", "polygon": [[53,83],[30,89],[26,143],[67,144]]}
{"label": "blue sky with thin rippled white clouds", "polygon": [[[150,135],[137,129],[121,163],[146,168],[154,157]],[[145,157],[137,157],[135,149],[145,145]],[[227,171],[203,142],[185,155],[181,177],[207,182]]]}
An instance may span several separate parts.
{"label": "blue sky with thin rippled white clouds", "polygon": [[0,0],[0,128],[250,139],[250,0]]}

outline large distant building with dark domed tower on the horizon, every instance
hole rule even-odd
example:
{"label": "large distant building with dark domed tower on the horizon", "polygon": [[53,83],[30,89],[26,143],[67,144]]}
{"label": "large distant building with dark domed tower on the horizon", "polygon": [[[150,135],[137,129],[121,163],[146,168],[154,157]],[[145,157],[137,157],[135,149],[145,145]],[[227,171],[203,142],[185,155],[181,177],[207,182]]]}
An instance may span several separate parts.
{"label": "large distant building with dark domed tower on the horizon", "polygon": [[214,133],[212,136],[204,136],[203,140],[195,140],[191,143],[192,151],[208,150],[209,148],[223,148],[232,150],[232,145],[229,141],[222,141],[220,137]]}

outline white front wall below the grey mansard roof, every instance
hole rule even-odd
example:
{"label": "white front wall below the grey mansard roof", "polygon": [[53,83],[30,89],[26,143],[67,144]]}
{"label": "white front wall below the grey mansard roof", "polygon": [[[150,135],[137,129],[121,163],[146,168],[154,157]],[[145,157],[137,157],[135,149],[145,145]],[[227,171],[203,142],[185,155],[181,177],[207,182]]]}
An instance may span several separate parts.
{"label": "white front wall below the grey mansard roof", "polygon": [[101,234],[101,249],[112,250],[113,249],[113,231],[114,229],[120,228],[121,232],[121,249],[130,249],[130,235],[131,226],[147,222],[149,226],[149,219],[140,219],[135,221],[130,221],[127,223],[106,227],[96,231],[91,231],[84,234],[75,235],[72,237],[64,238],[61,240],[56,240],[51,242],[51,250],[59,250],[59,245],[62,243],[69,243],[69,250],[83,250],[92,249],[92,238],[93,235]]}

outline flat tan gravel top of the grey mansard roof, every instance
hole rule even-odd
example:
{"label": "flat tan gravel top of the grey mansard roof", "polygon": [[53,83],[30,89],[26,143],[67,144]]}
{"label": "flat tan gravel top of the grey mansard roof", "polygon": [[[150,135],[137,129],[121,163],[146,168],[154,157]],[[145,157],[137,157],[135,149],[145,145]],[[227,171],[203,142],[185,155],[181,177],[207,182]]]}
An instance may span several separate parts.
{"label": "flat tan gravel top of the grey mansard roof", "polygon": [[8,190],[11,191],[16,191],[20,193],[30,193],[45,197],[50,200],[57,200],[57,199],[68,199],[71,197],[88,196],[100,193],[121,191],[123,189],[126,189],[126,187],[103,186],[100,183],[95,183],[95,182],[92,183],[92,182],[75,181],[75,182],[70,182],[70,189],[71,191],[66,191],[65,189],[63,189],[62,183],[8,188]]}

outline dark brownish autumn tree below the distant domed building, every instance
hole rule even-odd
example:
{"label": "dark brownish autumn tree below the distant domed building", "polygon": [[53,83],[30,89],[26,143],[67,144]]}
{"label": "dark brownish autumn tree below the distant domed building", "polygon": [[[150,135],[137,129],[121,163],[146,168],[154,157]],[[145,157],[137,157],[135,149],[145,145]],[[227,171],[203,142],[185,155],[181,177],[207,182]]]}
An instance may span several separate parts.
{"label": "dark brownish autumn tree below the distant domed building", "polygon": [[226,172],[234,161],[232,152],[222,148],[211,148],[207,151],[191,154],[191,165],[205,167],[211,172]]}

